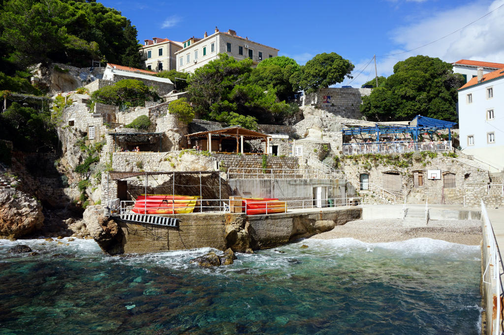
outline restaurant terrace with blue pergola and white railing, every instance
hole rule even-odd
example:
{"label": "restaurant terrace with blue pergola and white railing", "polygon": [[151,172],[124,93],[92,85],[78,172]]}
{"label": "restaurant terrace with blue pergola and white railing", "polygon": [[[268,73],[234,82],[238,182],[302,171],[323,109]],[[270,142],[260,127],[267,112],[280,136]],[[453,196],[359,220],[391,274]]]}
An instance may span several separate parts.
{"label": "restaurant terrace with blue pergola and white railing", "polygon": [[376,123],[374,127],[343,129],[343,154],[449,151],[452,148],[451,128],[455,124],[417,115],[409,125]]}

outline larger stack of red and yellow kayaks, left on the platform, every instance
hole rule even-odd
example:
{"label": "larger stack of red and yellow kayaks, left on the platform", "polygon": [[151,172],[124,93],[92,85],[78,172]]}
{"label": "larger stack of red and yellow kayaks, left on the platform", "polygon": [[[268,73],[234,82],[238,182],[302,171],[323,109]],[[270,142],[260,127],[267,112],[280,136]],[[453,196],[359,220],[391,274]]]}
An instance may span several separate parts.
{"label": "larger stack of red and yellow kayaks, left on the platform", "polygon": [[132,211],[138,214],[193,213],[200,196],[173,194],[142,194],[137,197]]}

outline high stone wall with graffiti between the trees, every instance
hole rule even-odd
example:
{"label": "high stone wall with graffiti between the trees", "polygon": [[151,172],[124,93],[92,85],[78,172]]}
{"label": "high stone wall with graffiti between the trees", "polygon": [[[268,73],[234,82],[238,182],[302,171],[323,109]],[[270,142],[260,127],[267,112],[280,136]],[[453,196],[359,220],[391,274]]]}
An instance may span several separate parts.
{"label": "high stone wall with graffiti between the trees", "polygon": [[[371,94],[367,88],[322,88],[316,93],[301,97],[300,105],[314,105],[331,114],[360,119],[362,97]],[[326,98],[324,98],[326,97]]]}

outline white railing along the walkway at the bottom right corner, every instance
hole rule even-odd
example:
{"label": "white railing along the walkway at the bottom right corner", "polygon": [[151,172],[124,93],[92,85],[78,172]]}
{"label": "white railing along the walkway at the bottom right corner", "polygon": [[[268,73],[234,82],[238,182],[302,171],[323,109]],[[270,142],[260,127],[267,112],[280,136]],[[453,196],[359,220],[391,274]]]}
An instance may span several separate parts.
{"label": "white railing along the walkway at the bottom right corner", "polygon": [[[500,253],[499,249],[497,246],[497,242],[495,240],[495,235],[493,234],[493,227],[490,222],[490,219],[488,218],[488,212],[486,211],[485,203],[483,200],[481,200],[481,216],[483,218],[483,223],[485,225],[483,229],[483,247],[487,245],[488,247],[485,249],[489,249],[488,251],[490,252],[488,263],[485,266],[485,271],[483,272],[482,275],[482,280],[483,283],[489,284],[492,287],[493,290],[493,296],[496,297],[496,311],[495,313],[492,312],[492,323],[493,323],[493,318],[495,317],[495,326],[493,327],[493,324],[487,324],[487,329],[491,329],[493,327],[493,334],[494,335],[500,335],[499,327],[501,323],[501,306],[500,306],[500,288],[502,286],[502,281],[500,278]],[[485,243],[486,242],[486,243]],[[487,252],[488,252],[487,251]],[[485,252],[485,251],[483,251]],[[490,270],[489,270],[490,269]],[[493,271],[491,270],[493,269]],[[488,271],[488,277],[489,281],[485,280],[485,275]],[[492,280],[495,281],[494,285],[492,284]],[[492,297],[487,297],[487,299],[492,299]],[[494,298],[495,299],[495,298]],[[490,311],[487,311],[489,313]],[[494,316],[495,315],[495,316]],[[490,333],[490,332],[487,332]]]}

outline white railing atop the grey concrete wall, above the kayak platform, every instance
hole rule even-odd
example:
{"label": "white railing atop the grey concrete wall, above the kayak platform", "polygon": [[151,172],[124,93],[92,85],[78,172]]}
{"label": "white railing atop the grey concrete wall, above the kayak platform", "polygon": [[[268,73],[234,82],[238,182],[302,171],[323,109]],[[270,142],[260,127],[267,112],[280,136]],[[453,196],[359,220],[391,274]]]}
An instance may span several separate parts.
{"label": "white railing atop the grey concrete wall, above the kayak platform", "polygon": [[229,168],[227,178],[234,179],[309,179],[345,177],[342,170],[326,171],[321,169],[262,169],[262,168]]}

